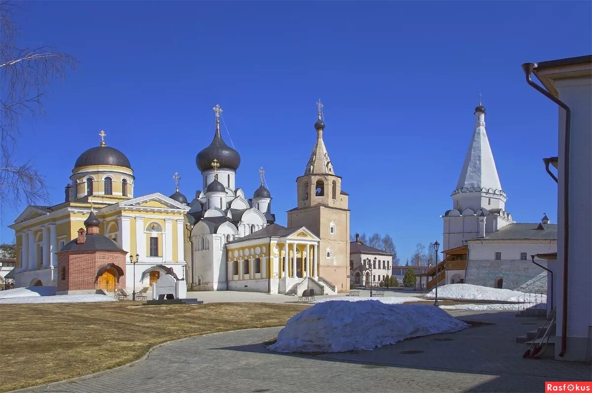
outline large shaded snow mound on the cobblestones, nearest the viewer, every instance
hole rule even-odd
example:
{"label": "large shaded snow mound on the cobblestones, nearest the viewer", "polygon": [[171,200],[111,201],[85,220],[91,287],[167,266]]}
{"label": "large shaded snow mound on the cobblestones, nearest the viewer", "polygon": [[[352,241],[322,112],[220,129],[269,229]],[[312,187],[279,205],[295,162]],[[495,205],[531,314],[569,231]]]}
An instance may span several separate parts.
{"label": "large shaded snow mound on the cobblestones, nearest the viewer", "polygon": [[433,305],[389,305],[381,301],[327,301],[288,320],[275,352],[373,350],[411,337],[468,327]]}

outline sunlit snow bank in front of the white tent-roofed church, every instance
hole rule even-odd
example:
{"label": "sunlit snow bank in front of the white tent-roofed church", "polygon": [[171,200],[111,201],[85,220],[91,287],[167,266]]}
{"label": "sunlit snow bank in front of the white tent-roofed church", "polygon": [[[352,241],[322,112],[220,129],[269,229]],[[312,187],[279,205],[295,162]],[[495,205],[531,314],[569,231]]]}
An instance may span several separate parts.
{"label": "sunlit snow bank in front of the white tent-roofed church", "polygon": [[[426,298],[435,298],[436,289],[426,294]],[[532,297],[532,298],[531,298]],[[472,284],[448,284],[438,287],[439,299],[455,300],[488,300],[505,302],[537,302],[545,303],[546,295],[525,294],[511,289],[490,288]]]}

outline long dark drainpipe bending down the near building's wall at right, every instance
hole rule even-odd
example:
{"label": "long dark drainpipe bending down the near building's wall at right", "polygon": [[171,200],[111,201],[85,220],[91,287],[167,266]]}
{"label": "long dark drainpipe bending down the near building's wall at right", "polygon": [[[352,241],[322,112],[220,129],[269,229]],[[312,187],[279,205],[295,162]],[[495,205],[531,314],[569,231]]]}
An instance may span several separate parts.
{"label": "long dark drainpipe bending down the near building's wall at right", "polygon": [[532,70],[535,69],[535,63],[524,63],[522,69],[526,75],[526,83],[535,88],[538,92],[551,99],[555,104],[565,110],[565,141],[564,141],[564,166],[563,166],[563,302],[562,302],[562,316],[561,316],[561,352],[560,357],[565,356],[565,350],[567,349],[567,286],[568,286],[568,255],[570,251],[570,201],[568,199],[568,191],[570,185],[570,128],[571,128],[571,109],[565,102],[560,101],[558,98],[553,96],[551,93],[537,85],[530,79]]}

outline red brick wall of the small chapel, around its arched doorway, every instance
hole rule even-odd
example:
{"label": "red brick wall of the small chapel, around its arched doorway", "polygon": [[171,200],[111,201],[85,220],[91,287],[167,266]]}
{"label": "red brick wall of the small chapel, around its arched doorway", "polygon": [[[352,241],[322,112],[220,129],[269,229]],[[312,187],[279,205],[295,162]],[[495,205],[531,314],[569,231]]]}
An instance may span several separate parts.
{"label": "red brick wall of the small chapel, around its arched doorway", "polygon": [[[124,276],[116,283],[117,289],[126,288],[126,253],[123,251],[70,251],[57,255],[57,291],[76,291],[81,289],[99,289],[96,272],[102,266],[114,263],[119,266]],[[65,279],[63,271],[65,269]]]}

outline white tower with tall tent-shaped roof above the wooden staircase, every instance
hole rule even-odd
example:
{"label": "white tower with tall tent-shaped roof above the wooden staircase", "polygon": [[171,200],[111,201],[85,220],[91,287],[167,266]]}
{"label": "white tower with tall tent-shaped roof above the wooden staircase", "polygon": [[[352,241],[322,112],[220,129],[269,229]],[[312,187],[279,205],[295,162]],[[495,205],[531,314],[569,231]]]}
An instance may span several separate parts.
{"label": "white tower with tall tent-shaped roof above the wooden staircase", "polygon": [[475,128],[461,175],[452,192],[453,208],[442,216],[443,249],[462,246],[463,240],[484,237],[512,223],[504,210],[506,200],[485,132],[485,108],[480,103],[475,108]]}

